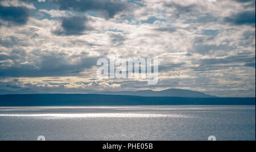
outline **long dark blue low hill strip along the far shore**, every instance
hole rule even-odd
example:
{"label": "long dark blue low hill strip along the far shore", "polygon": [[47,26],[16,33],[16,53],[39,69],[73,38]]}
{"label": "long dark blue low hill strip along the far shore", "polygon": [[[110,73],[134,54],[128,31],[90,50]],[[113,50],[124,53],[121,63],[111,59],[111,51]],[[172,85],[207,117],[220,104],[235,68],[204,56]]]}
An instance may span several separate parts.
{"label": "long dark blue low hill strip along the far shore", "polygon": [[90,94],[0,95],[0,106],[255,105],[255,98],[180,98]]}

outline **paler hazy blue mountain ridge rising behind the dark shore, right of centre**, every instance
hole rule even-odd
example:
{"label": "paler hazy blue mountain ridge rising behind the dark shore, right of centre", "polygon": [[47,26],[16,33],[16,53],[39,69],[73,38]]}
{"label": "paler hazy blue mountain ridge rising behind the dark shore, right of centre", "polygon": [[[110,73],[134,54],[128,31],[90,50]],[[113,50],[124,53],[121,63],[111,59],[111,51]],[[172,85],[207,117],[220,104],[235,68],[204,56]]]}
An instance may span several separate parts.
{"label": "paler hazy blue mountain ridge rising behind the dark shore, right of centre", "polygon": [[207,95],[203,92],[182,90],[171,88],[163,91],[118,91],[118,92],[94,92],[93,94],[100,95],[128,95],[128,96],[148,96],[148,97],[159,97],[159,96],[170,96],[170,97],[183,97],[183,98],[217,98],[217,96]]}

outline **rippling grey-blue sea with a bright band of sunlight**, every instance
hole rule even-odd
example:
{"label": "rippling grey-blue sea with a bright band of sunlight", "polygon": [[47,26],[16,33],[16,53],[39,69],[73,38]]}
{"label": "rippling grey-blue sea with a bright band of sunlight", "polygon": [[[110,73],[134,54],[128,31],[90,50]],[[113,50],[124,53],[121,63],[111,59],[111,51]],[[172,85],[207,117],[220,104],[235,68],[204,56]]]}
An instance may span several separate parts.
{"label": "rippling grey-blue sea with a bright band of sunlight", "polygon": [[0,107],[0,140],[255,141],[255,106]]}

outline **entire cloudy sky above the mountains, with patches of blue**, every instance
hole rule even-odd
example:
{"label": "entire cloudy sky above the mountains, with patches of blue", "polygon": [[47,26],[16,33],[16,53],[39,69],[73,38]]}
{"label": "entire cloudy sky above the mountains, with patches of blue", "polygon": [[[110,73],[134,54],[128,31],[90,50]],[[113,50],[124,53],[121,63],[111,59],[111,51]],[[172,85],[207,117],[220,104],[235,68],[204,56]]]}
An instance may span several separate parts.
{"label": "entire cloudy sky above the mountains, with patches of blue", "polygon": [[[110,54],[158,84],[97,78]],[[167,88],[255,97],[255,0],[0,0],[0,94]]]}

